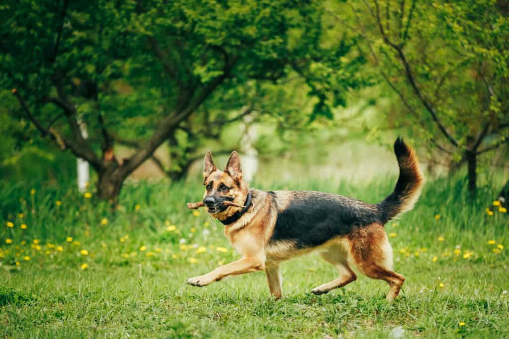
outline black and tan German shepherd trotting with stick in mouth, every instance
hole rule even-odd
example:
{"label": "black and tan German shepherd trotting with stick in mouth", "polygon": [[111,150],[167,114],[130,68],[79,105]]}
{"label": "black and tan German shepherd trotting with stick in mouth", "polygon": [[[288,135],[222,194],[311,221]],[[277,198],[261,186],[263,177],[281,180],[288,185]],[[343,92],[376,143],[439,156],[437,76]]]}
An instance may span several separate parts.
{"label": "black and tan German shepherd trotting with stick in mouth", "polygon": [[[392,248],[384,225],[412,209],[424,177],[414,150],[401,138],[394,143],[400,175],[394,191],[378,204],[315,191],[260,191],[242,180],[240,158],[232,152],[224,171],[218,170],[210,151],[205,155],[203,204],[224,224],[224,234],[240,260],[187,280],[206,286],[228,275],[265,270],[270,293],[281,298],[279,264],[319,250],[334,265],[338,277],[312,290],[327,293],[357,279],[352,264],[373,279],[389,284],[387,300],[398,296],[405,277],[392,268]],[[234,205],[225,206],[225,202]],[[239,207],[240,206],[240,207]]]}

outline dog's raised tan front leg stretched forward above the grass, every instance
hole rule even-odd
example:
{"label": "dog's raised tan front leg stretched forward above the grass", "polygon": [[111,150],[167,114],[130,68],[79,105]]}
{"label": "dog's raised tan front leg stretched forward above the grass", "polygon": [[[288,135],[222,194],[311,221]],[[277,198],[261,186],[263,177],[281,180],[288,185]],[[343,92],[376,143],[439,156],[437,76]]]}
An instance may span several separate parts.
{"label": "dog's raised tan front leg stretched forward above the grass", "polygon": [[219,281],[225,276],[256,272],[265,269],[265,259],[262,257],[245,257],[229,264],[220,266],[210,273],[195,276],[187,280],[188,285],[207,286],[210,283]]}

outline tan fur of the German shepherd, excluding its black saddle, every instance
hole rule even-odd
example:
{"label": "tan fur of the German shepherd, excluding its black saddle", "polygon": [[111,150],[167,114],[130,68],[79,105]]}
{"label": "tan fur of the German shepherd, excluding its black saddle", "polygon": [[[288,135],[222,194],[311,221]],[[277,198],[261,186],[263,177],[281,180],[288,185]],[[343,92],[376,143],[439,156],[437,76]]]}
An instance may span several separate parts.
{"label": "tan fur of the German shepherd, excluding its black saddle", "polygon": [[[411,150],[411,157],[412,163],[407,165],[413,166],[421,176],[413,150]],[[215,167],[210,152],[207,153],[204,184],[207,186],[210,182],[213,182],[213,187],[205,192],[204,197],[212,193],[228,195],[239,205],[244,204],[249,189],[242,180],[237,152],[232,153],[224,171]],[[231,189],[228,192],[218,193],[220,183]],[[421,186],[421,184],[417,185],[414,190],[420,191]],[[291,240],[269,242],[274,232],[278,212],[285,210],[289,203],[295,199],[295,196],[301,193],[279,191],[276,192],[277,199],[273,199],[264,191],[250,190],[250,192],[252,204],[249,209],[239,220],[224,227],[225,236],[242,258],[220,266],[205,275],[191,278],[188,280],[188,284],[201,287],[219,281],[225,276],[265,270],[270,293],[278,299],[282,296],[279,264],[295,256],[320,250],[322,258],[334,265],[339,275],[331,282],[314,288],[313,293],[327,293],[355,281],[357,276],[351,269],[351,266],[355,265],[370,278],[381,279],[389,284],[390,290],[387,295],[389,301],[398,296],[405,278],[393,271],[392,249],[383,225],[373,223],[356,228],[346,235],[332,237],[314,248],[298,249],[295,242]],[[417,200],[415,195],[418,196],[418,194],[414,194],[414,196],[404,199],[402,211],[413,206]],[[231,206],[222,212],[212,214],[212,216],[219,220],[225,220],[239,210],[240,208]]]}

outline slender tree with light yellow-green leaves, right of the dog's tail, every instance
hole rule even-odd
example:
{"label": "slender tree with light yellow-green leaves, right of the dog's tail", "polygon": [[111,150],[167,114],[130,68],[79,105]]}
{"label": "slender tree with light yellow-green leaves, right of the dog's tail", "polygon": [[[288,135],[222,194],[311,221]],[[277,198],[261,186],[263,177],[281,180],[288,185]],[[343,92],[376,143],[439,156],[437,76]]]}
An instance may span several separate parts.
{"label": "slender tree with light yellow-green leaves, right of the dog's tail", "polygon": [[400,99],[401,114],[389,115],[393,127],[407,124],[465,161],[475,193],[478,157],[509,141],[507,8],[490,0],[346,6],[347,15],[329,13],[360,32],[363,52]]}

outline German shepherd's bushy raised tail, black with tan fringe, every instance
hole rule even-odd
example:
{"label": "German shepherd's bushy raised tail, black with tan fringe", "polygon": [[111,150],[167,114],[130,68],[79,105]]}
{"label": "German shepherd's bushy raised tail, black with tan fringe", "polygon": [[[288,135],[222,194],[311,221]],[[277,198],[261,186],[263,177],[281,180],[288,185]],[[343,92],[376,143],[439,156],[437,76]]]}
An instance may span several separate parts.
{"label": "German shepherd's bushy raised tail, black with tan fringe", "polygon": [[382,212],[383,224],[398,214],[411,210],[419,199],[424,184],[424,176],[419,168],[415,151],[400,137],[394,142],[394,153],[400,166],[400,176],[394,191],[377,204]]}

